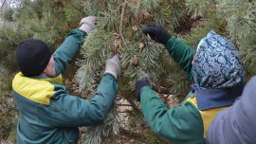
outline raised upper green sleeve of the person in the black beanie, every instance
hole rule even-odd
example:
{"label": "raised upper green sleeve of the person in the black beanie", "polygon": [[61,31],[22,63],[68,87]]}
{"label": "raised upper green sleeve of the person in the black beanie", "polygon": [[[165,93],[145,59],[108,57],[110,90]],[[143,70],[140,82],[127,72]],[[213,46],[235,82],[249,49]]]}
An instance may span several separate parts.
{"label": "raised upper green sleeve of the person in the black beanie", "polygon": [[79,52],[85,32],[73,29],[66,35],[64,43],[53,53],[56,76],[64,73],[66,66]]}

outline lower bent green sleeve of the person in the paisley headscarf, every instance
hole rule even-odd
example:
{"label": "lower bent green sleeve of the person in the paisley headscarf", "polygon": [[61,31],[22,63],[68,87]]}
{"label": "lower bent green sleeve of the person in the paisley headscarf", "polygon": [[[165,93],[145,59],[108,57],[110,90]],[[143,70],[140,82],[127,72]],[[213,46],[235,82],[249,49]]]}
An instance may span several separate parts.
{"label": "lower bent green sleeve of the person in the paisley headscarf", "polygon": [[203,121],[191,102],[168,109],[149,86],[140,90],[140,102],[145,119],[157,135],[173,143],[204,143]]}

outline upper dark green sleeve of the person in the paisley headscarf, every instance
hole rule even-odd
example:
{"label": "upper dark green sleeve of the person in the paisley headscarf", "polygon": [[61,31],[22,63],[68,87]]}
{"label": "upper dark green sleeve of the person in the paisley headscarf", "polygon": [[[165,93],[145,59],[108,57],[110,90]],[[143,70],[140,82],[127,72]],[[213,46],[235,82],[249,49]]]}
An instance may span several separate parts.
{"label": "upper dark green sleeve of the person in the paisley headscarf", "polygon": [[193,53],[194,49],[192,47],[184,44],[180,40],[176,39],[175,36],[173,36],[167,45],[165,45],[165,48],[170,53],[171,57],[174,58],[174,61],[181,66],[183,70],[186,71],[189,78],[192,79],[192,59],[193,59]]}

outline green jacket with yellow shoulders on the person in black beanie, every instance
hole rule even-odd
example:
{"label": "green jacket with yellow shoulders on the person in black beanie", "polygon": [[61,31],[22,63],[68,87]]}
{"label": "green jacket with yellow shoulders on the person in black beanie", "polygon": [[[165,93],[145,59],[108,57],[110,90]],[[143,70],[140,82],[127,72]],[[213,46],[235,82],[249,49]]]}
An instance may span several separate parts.
{"label": "green jacket with yellow shoulders on the person in black beanie", "polygon": [[111,75],[101,79],[90,101],[71,96],[63,85],[62,74],[85,36],[82,30],[73,29],[53,53],[55,78],[25,77],[21,72],[14,77],[18,144],[77,143],[78,127],[97,124],[106,116],[118,93],[118,83]]}

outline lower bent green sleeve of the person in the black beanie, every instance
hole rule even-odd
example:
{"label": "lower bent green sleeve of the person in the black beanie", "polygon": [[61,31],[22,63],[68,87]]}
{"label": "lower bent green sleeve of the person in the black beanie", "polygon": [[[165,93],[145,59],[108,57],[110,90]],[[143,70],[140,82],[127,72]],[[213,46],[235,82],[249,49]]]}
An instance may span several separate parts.
{"label": "lower bent green sleeve of the person in the black beanie", "polygon": [[118,94],[118,82],[105,75],[91,100],[59,91],[51,98],[51,123],[55,127],[80,127],[100,123]]}

